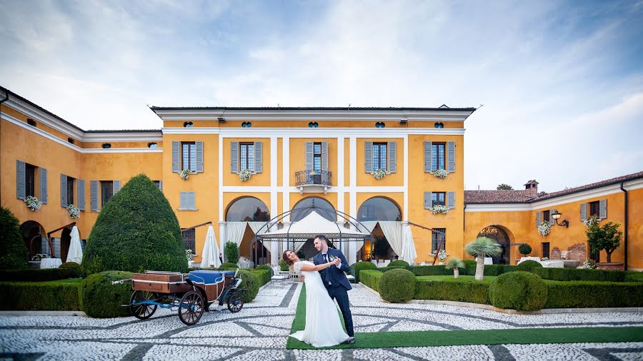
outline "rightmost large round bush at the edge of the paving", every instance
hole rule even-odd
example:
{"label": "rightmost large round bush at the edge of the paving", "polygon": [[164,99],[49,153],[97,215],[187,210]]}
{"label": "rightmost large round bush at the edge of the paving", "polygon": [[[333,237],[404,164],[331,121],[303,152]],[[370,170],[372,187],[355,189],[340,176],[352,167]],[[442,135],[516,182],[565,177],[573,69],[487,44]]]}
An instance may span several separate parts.
{"label": "rightmost large round bush at the edge of the paving", "polygon": [[498,308],[540,310],[547,303],[547,285],[531,272],[503,273],[489,287],[489,300]]}

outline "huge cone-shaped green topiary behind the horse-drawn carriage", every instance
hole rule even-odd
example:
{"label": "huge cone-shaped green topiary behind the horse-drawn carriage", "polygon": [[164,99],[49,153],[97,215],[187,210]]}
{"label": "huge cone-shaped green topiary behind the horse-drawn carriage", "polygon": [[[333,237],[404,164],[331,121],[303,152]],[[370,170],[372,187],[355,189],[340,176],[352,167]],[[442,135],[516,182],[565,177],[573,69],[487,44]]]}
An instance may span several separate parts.
{"label": "huge cone-shaped green topiary behind the horse-drawn carriage", "polygon": [[106,270],[187,272],[179,220],[161,190],[139,174],[101,210],[83,255],[84,275]]}

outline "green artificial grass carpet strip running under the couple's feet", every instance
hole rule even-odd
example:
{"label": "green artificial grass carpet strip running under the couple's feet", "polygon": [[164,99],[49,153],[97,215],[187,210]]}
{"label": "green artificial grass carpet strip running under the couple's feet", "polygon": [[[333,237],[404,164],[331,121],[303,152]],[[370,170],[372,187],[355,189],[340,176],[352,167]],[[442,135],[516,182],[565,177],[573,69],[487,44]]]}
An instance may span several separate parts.
{"label": "green artificial grass carpet strip running under the couple's feet", "polygon": [[[432,276],[434,277],[434,276]],[[304,330],[306,326],[306,288],[301,288],[299,303],[290,333]],[[455,345],[528,345],[574,342],[643,342],[643,327],[566,327],[566,328],[517,328],[509,330],[459,330],[459,331],[392,331],[359,332],[353,345],[323,347],[389,348],[429,347]],[[286,341],[288,350],[315,350],[316,347],[292,337]]]}

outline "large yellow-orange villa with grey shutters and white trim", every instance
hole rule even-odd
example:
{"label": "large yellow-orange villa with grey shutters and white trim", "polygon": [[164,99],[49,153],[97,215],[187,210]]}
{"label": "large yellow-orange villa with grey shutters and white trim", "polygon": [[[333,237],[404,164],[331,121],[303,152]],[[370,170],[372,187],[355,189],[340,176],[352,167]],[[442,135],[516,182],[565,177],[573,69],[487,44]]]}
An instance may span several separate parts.
{"label": "large yellow-orange villa with grey shutters and white trim", "polygon": [[[464,244],[481,233],[504,245],[497,262],[515,263],[519,243],[555,257],[554,249],[586,243],[581,218],[596,213],[626,227],[627,247],[613,260],[643,268],[643,173],[547,195],[535,181],[524,191],[465,191],[464,123],[475,108],[151,107],[160,129],[84,131],[6,88],[0,102],[1,204],[19,218],[31,256],[64,260],[71,226],[89,238],[104,203],[145,173],[197,255],[201,225],[211,224],[221,244],[276,264],[284,243],[266,247],[255,234],[271,218],[314,204],[339,226],[349,226],[335,215],[345,213],[373,239],[389,239],[389,258],[410,230],[417,263],[432,261],[438,248],[465,258]],[[30,195],[44,203],[39,210],[26,206]],[[536,223],[554,209],[569,228],[554,225],[542,237]],[[305,215],[291,214],[274,227]],[[373,244],[347,243],[349,263],[368,259]],[[314,253],[310,243],[298,251]]]}

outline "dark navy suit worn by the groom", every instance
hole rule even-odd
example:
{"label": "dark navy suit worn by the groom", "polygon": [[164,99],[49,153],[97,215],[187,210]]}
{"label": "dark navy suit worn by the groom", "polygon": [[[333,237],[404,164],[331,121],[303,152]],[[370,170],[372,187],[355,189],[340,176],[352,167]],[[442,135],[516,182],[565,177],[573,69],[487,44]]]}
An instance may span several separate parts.
{"label": "dark navy suit worn by the groom", "polygon": [[[353,317],[351,315],[350,302],[348,299],[347,291],[352,289],[351,283],[346,278],[344,272],[350,272],[351,268],[346,261],[346,257],[341,250],[335,250],[333,248],[328,249],[328,255],[339,258],[342,260],[342,264],[337,266],[332,265],[329,268],[324,268],[320,270],[319,274],[321,275],[321,281],[326,286],[328,290],[328,295],[332,300],[337,299],[337,304],[339,305],[339,310],[342,311],[342,316],[344,316],[344,325],[346,325],[346,332],[349,336],[353,337]],[[313,259],[316,265],[321,265],[322,263],[327,263],[330,260],[324,260],[324,255],[317,253]]]}

